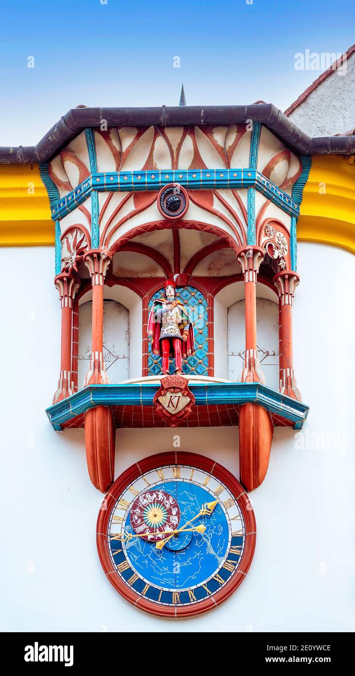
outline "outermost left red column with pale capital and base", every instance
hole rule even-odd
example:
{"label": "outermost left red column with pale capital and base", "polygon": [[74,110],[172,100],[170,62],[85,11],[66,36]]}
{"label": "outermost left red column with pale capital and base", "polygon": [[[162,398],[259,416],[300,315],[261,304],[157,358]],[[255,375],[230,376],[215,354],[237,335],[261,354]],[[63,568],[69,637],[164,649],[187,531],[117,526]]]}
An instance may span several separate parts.
{"label": "outermost left red column with pale capital and base", "polygon": [[72,386],[72,312],[79,282],[69,272],[57,274],[54,280],[61,301],[61,370],[53,404],[70,397]]}

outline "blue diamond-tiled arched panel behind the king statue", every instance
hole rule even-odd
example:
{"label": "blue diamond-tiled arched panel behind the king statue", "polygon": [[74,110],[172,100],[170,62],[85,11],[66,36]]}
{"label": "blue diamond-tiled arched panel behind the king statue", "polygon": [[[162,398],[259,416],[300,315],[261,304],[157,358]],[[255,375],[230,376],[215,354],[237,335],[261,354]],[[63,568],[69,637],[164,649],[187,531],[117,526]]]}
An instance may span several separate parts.
{"label": "blue diamond-tiled arched panel behind the king statue", "polygon": [[[151,297],[149,301],[149,311],[153,305],[153,301],[161,298],[164,289],[159,289]],[[183,360],[182,372],[186,374],[193,374],[198,376],[209,375],[209,341],[208,341],[208,324],[207,324],[207,300],[204,295],[195,289],[195,287],[177,287],[177,298],[184,304],[188,315],[192,319],[194,325],[195,336],[195,354],[192,354],[187,359]],[[175,359],[170,361],[170,372],[175,371]],[[148,376],[160,375],[161,357],[152,354],[152,345],[149,341],[148,345]]]}

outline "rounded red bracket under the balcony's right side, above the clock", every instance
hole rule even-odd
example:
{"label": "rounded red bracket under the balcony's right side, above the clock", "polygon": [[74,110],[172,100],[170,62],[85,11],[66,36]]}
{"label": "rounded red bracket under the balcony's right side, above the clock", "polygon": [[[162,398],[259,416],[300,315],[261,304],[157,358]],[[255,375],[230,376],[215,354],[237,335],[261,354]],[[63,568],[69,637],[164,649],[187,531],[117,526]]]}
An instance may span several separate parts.
{"label": "rounded red bracket under the balcony's right side, above the clock", "polygon": [[247,491],[263,483],[273,440],[271,414],[258,404],[242,404],[239,417],[240,482]]}

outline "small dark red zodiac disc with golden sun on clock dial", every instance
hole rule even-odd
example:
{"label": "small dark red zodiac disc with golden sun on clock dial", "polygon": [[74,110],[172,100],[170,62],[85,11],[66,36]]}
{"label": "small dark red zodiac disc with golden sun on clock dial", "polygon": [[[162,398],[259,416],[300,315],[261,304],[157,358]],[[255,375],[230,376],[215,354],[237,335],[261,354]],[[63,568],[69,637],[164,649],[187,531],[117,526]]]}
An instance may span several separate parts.
{"label": "small dark red zodiac disc with golden sun on clock dial", "polygon": [[180,508],[175,498],[162,490],[150,490],[137,496],[130,511],[130,522],[137,535],[146,540],[163,539],[177,528]]}

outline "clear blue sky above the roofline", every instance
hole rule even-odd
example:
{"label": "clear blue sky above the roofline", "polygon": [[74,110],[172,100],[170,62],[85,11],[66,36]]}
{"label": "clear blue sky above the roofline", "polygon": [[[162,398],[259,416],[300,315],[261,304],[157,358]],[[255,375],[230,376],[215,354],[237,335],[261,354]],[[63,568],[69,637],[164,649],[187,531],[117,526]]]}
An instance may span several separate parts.
{"label": "clear blue sky above the roofline", "polygon": [[182,81],[188,105],[285,110],[321,72],[296,53],[355,41],[350,0],[103,1],[1,3],[0,145],[37,143],[78,104],[177,105]]}

